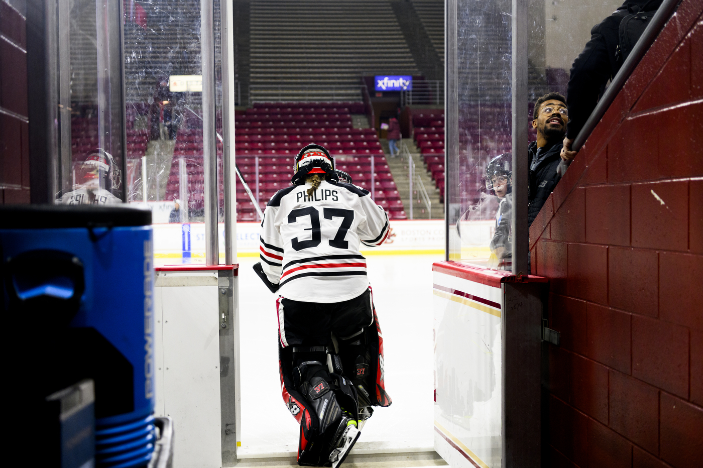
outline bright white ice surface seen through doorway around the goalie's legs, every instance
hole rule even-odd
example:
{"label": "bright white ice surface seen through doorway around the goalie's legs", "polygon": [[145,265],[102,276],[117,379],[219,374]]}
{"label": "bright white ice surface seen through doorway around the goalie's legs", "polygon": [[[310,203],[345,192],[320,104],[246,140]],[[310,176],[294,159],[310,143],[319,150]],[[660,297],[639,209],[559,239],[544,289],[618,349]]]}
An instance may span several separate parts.
{"label": "bright white ice surface seen through doorway around the goalie's legs", "polygon": [[[368,276],[384,339],[389,408],[376,408],[352,453],[418,450],[433,442],[432,262],[441,255],[368,256]],[[293,455],[298,424],[278,377],[276,295],[239,260],[242,446],[240,457]]]}

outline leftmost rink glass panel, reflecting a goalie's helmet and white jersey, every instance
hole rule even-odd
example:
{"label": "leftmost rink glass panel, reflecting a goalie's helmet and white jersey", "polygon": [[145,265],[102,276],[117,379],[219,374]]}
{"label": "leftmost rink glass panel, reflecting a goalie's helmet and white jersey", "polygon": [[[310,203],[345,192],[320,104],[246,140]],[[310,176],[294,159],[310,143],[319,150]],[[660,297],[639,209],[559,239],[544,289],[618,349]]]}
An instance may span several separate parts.
{"label": "leftmost rink glass panel, reflecting a goalie's helmet and white jersey", "polygon": [[120,2],[47,4],[49,99],[57,203],[124,199],[124,101]]}

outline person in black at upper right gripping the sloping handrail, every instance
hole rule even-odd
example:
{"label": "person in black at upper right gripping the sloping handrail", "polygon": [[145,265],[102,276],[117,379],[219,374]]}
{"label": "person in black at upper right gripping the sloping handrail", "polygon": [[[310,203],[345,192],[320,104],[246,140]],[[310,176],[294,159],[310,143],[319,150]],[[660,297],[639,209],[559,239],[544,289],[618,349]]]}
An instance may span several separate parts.
{"label": "person in black at upper right gripping the sloping handrail", "polygon": [[605,84],[612,79],[623,64],[619,49],[619,27],[624,16],[638,11],[654,11],[663,0],[626,0],[624,4],[591,30],[591,40],[574,60],[567,87],[569,124],[564,138],[561,157],[569,162],[576,156],[572,143],[586,120],[595,109],[605,91]]}

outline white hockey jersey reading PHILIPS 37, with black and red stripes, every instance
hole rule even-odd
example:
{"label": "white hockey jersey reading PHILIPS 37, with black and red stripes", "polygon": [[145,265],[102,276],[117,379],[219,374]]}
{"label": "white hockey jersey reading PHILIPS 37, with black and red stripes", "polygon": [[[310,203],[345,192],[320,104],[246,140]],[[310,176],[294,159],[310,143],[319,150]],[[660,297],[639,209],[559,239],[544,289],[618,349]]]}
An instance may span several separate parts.
{"label": "white hockey jersey reading PHILIPS 37, with black and red stripes", "polygon": [[259,256],[278,294],[294,301],[347,301],[368,288],[361,243],[381,245],[388,214],[368,191],[323,181],[279,190],[264,212]]}

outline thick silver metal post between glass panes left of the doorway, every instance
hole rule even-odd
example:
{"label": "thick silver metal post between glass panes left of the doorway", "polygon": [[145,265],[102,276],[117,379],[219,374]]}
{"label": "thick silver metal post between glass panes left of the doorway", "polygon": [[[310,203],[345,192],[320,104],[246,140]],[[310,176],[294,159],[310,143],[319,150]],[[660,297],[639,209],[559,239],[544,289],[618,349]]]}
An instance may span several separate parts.
{"label": "thick silver metal post between glass panes left of the doorway", "polygon": [[205,179],[205,264],[219,264],[213,0],[200,0],[202,67],[202,170]]}

